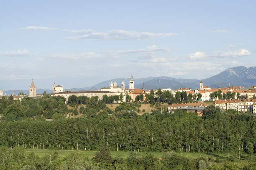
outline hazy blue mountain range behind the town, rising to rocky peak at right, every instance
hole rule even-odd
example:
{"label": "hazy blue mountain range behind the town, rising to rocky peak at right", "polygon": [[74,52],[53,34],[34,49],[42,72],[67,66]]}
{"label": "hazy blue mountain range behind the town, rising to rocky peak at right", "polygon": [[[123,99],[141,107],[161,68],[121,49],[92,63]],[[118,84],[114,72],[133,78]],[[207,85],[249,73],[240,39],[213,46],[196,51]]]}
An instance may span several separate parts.
{"label": "hazy blue mountain range behind the town, rising to rocky peak at right", "polygon": [[[84,88],[72,88],[72,89],[65,89],[65,90],[72,90],[72,91],[85,91],[85,90],[96,90],[102,87],[109,87],[110,82],[116,81],[118,85],[121,84],[122,81],[125,82],[126,88],[129,87],[129,80],[130,78],[114,78],[112,80],[106,80],[95,84],[91,87],[84,87]],[[150,89],[158,89],[158,88],[171,88],[171,89],[178,89],[180,87],[190,87],[191,89],[198,89],[200,80],[197,79],[181,79],[181,78],[172,78],[172,77],[147,77],[147,78],[138,78],[135,80],[135,88],[141,89],[144,83],[144,87],[146,90]],[[211,76],[209,78],[203,79],[204,86],[210,86],[211,88],[218,88],[218,87],[227,87],[227,84],[230,86],[252,86],[256,85],[256,67],[232,67],[224,70],[223,72]],[[15,94],[18,94],[21,90],[15,91]],[[43,93],[46,91],[47,93],[51,93],[52,90],[44,90],[38,89],[37,93]],[[7,95],[13,94],[13,90],[4,91]],[[28,94],[28,90],[23,90],[23,93]]]}

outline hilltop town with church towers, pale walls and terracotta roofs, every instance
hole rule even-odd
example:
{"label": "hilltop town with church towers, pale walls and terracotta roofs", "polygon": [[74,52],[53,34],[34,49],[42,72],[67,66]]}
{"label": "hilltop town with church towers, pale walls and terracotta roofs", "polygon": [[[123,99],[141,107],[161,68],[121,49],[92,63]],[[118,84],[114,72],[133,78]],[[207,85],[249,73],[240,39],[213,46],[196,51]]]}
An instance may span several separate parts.
{"label": "hilltop town with church towers, pale walls and terracotta roofs", "polygon": [[[122,102],[150,102],[159,100],[169,104],[168,112],[179,109],[186,112],[195,112],[201,116],[202,111],[209,105],[214,104],[221,110],[233,109],[241,113],[251,112],[256,115],[256,86],[245,88],[244,86],[229,86],[225,88],[211,88],[204,86],[202,80],[199,83],[198,89],[182,88],[179,89],[151,89],[146,90],[144,85],[142,89],[135,88],[135,80],[133,76],[130,77],[129,87],[126,88],[125,82],[122,81],[120,86],[117,82],[110,82],[109,87],[103,87],[98,90],[91,91],[65,91],[63,86],[52,86],[52,93],[50,96],[60,96],[65,98],[65,103],[70,103],[72,100],[79,103],[78,98],[97,97],[97,100],[103,100],[106,103],[122,103]],[[40,98],[44,94],[37,94],[34,80],[32,80],[29,87],[29,94],[13,94],[14,100],[22,100],[24,98]],[[3,90],[0,90],[0,99],[4,96]],[[6,96],[6,95],[5,95]],[[8,97],[8,96],[6,96]],[[150,99],[151,97],[151,99]],[[82,103],[82,100],[80,100]]]}

